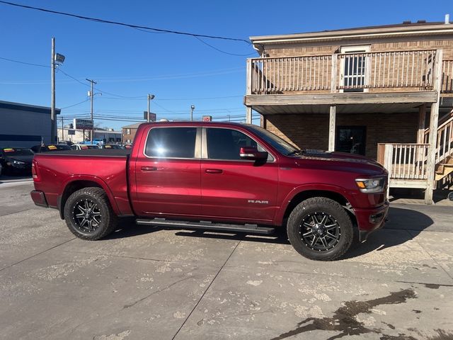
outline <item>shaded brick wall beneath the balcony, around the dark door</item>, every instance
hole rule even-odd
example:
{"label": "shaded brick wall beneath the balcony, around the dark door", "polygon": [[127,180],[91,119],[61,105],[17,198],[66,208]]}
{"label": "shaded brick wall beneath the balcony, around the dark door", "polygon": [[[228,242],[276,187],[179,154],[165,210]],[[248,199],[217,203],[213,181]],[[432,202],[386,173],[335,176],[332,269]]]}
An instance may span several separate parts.
{"label": "shaded brick wall beneath the balcony, around the dark door", "polygon": [[[268,115],[266,128],[302,149],[328,148],[328,114]],[[417,142],[418,113],[337,114],[337,126],[365,126],[367,157],[377,157],[378,143]]]}

